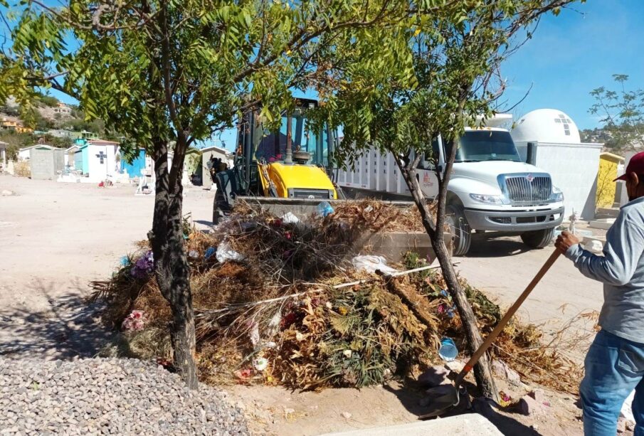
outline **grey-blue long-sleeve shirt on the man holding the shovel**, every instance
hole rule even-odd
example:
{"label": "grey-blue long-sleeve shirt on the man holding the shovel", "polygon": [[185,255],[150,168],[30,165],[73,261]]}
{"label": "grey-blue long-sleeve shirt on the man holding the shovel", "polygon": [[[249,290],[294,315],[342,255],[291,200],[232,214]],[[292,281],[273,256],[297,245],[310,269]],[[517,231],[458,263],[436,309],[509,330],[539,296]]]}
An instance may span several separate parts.
{"label": "grey-blue long-sleeve shirt on the man holding the shovel", "polygon": [[573,245],[566,252],[583,275],[603,283],[602,329],[644,344],[644,197],[621,208],[603,256]]}

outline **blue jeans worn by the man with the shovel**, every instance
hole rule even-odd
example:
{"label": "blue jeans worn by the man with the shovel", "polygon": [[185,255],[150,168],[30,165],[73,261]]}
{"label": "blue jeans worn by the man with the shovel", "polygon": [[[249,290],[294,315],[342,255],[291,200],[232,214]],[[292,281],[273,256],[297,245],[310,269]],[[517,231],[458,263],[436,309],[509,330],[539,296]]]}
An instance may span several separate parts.
{"label": "blue jeans worn by the man with the shovel", "polygon": [[644,344],[600,331],[586,355],[579,393],[585,436],[615,436],[624,400],[635,389],[635,436],[644,436]]}

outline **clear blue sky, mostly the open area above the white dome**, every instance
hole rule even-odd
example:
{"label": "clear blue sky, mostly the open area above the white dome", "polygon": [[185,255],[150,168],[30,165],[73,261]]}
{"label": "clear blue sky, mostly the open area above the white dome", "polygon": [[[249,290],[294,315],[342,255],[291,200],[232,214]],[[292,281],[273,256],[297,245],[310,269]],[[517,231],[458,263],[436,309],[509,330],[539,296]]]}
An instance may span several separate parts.
{"label": "clear blue sky, mostly the open area above the white dome", "polygon": [[[532,85],[512,110],[515,117],[550,107],[566,112],[581,129],[598,127],[599,117],[588,113],[591,90],[613,87],[614,73],[629,75],[629,87],[644,88],[643,17],[644,0],[588,0],[559,16],[544,16],[533,38],[502,65],[505,107],[519,102]],[[233,149],[235,132],[219,138]]]}

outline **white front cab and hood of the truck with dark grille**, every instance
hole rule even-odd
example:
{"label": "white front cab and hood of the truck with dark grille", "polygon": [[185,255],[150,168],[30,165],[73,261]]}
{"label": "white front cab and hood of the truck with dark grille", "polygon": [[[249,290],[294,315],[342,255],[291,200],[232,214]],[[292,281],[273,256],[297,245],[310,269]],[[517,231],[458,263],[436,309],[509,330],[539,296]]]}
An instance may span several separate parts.
{"label": "white front cab and hood of the truck with dark grille", "polygon": [[[438,195],[436,168],[445,168],[450,145],[437,137],[431,159],[421,159],[418,181],[428,198]],[[507,129],[468,128],[448,186],[447,222],[455,237],[455,255],[464,255],[472,230],[521,235],[531,248],[542,248],[564,219],[564,196],[550,175],[523,162]]]}

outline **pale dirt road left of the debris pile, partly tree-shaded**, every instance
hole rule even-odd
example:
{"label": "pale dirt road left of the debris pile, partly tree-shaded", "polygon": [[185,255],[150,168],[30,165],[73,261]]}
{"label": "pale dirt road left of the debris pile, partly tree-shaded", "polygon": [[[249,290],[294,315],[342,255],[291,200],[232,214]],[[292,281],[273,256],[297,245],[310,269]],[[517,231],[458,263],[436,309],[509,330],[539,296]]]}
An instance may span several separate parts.
{"label": "pale dirt road left of the debris pile, partly tree-shaded", "polygon": [[[105,337],[83,301],[146,238],[154,198],[133,186],[98,188],[0,176],[0,353],[92,355]],[[189,190],[186,211],[208,218],[212,195]]]}

